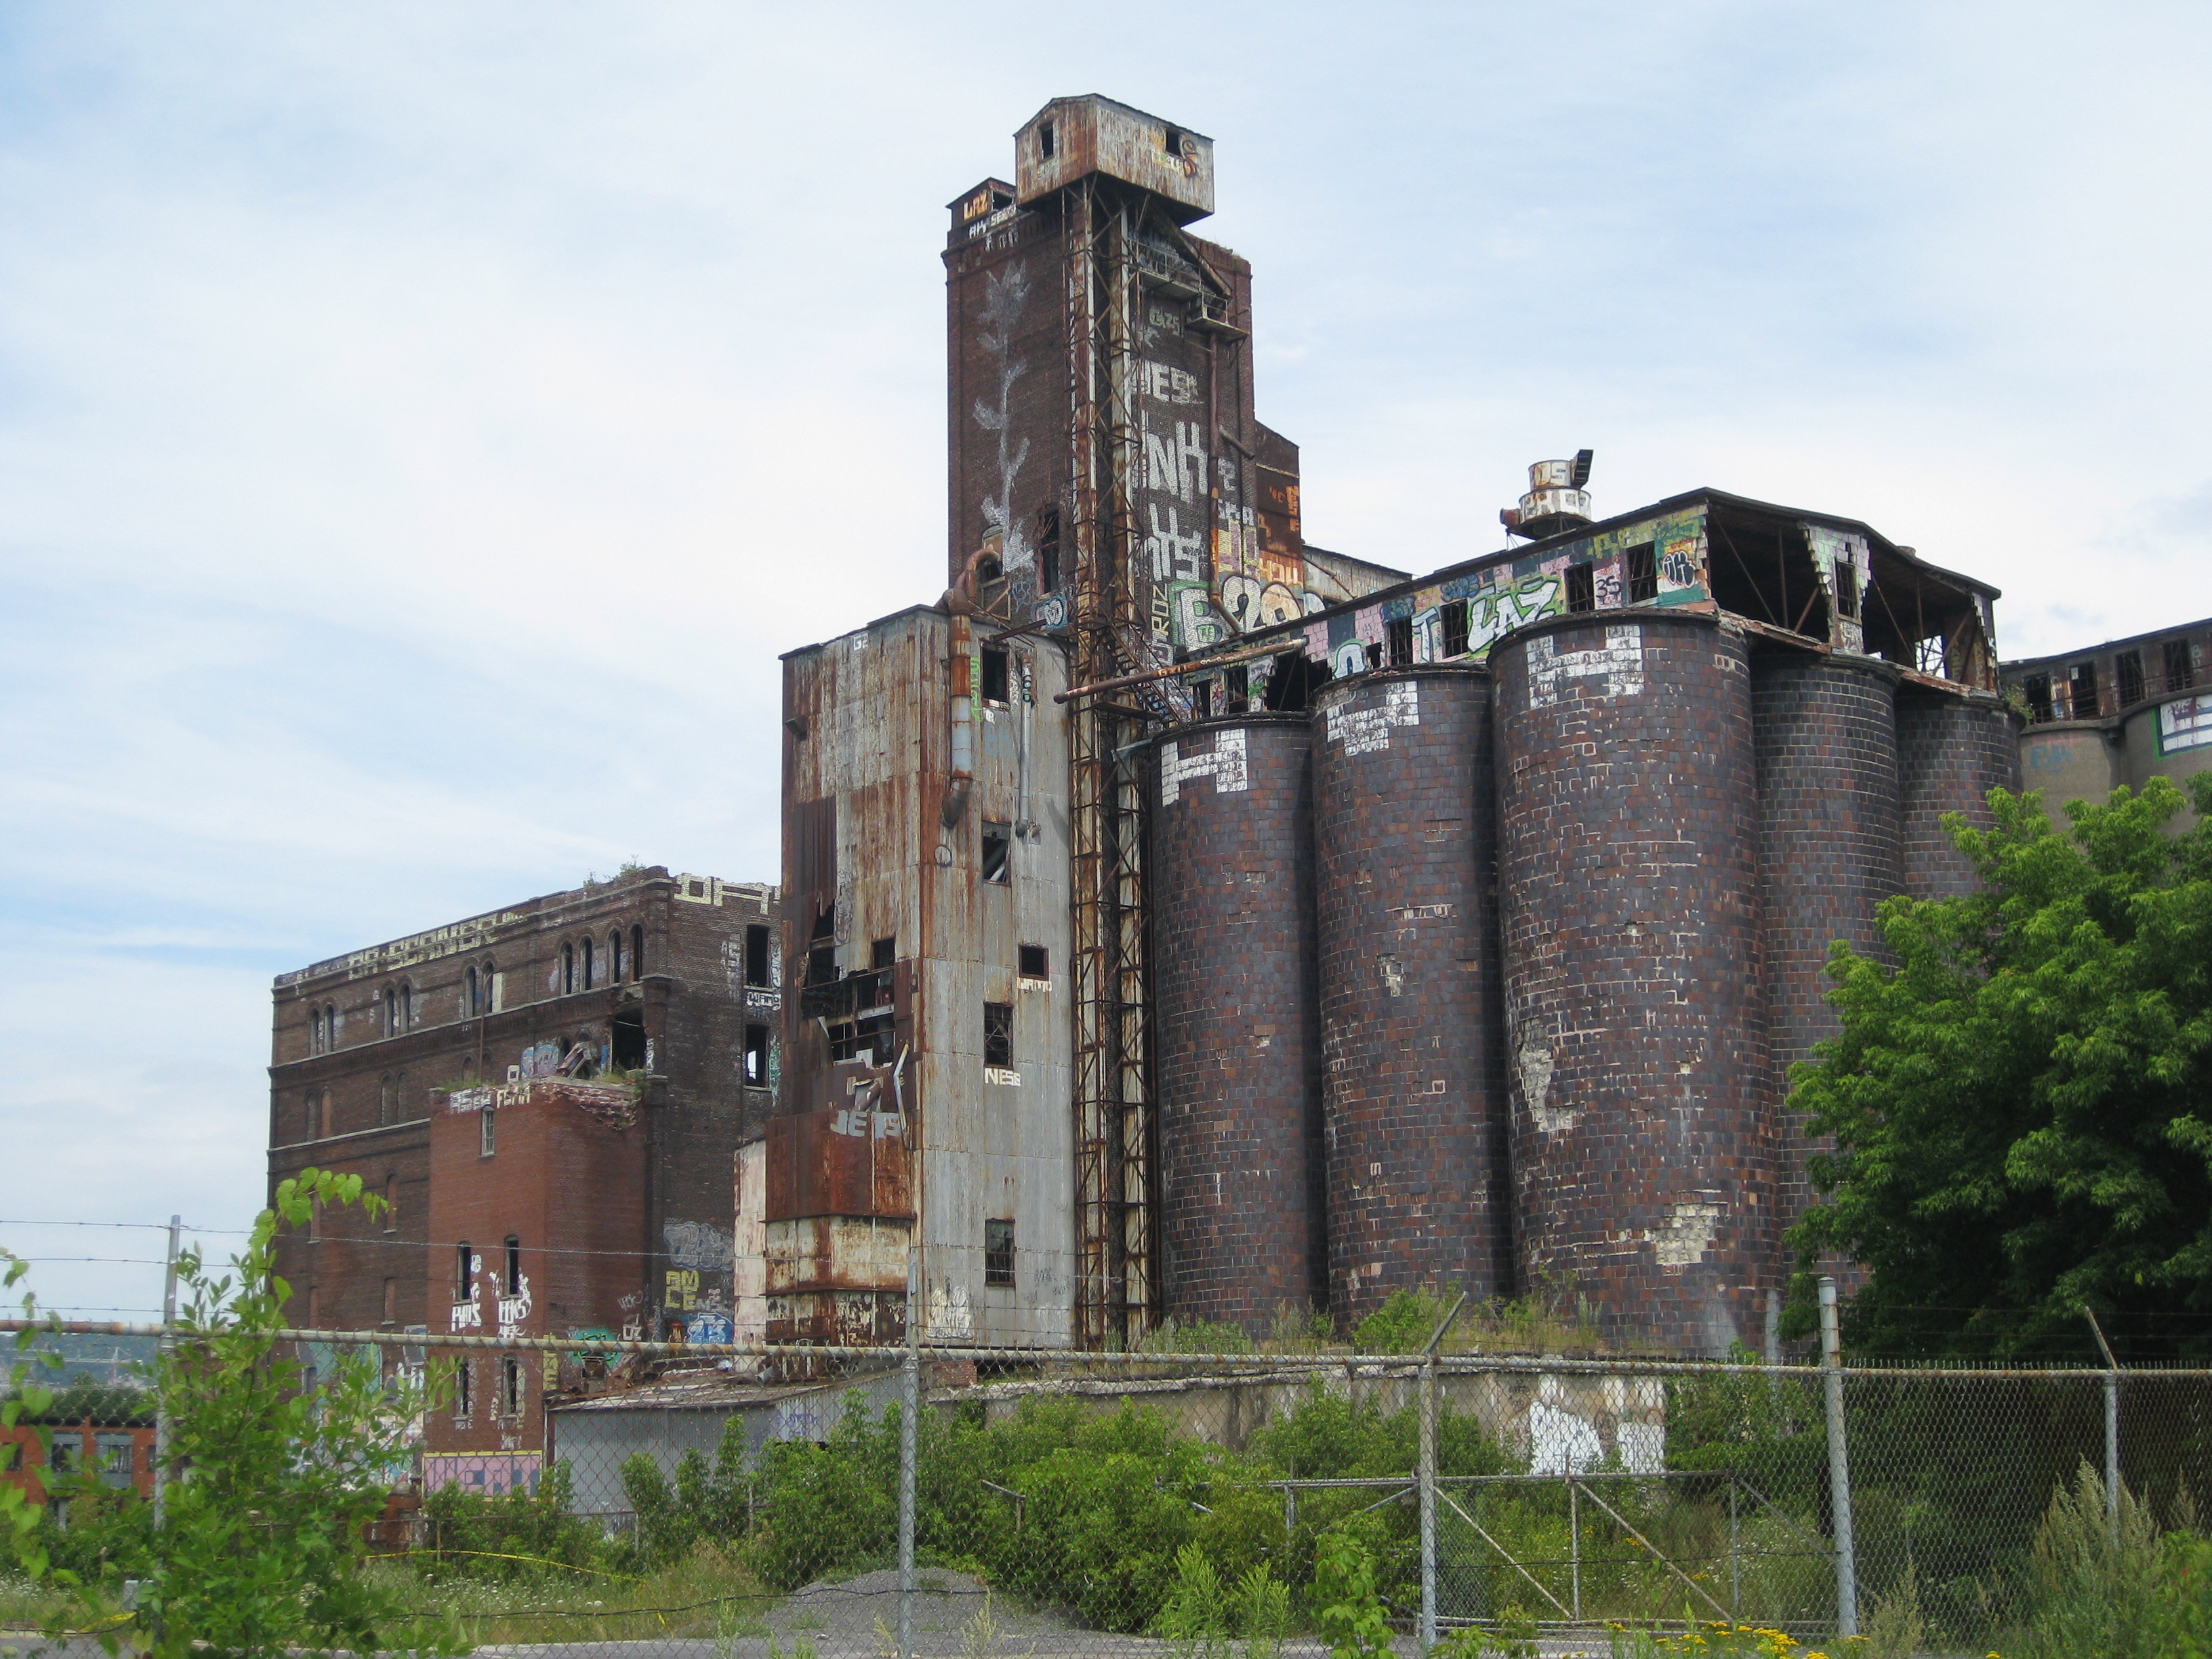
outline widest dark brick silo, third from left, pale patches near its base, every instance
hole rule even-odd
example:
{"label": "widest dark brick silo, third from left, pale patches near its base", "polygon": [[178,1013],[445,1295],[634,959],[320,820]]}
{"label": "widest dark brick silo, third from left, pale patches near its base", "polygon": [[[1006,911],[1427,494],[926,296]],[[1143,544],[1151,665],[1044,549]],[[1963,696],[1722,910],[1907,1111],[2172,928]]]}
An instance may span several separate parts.
{"label": "widest dark brick silo, third from left, pale patches near its base", "polygon": [[1756,1343],[1778,1263],[1743,635],[1575,615],[1491,670],[1522,1267],[1621,1343]]}

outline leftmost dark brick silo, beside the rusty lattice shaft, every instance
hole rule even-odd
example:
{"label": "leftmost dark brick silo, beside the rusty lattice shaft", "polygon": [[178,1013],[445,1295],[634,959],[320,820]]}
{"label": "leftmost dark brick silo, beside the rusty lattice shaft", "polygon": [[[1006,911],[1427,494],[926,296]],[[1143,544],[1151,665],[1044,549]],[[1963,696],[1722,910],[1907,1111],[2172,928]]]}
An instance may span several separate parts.
{"label": "leftmost dark brick silo, beside the rusty lattice shaft", "polygon": [[1254,1336],[1325,1296],[1303,714],[1155,743],[1146,902],[1168,1312]]}

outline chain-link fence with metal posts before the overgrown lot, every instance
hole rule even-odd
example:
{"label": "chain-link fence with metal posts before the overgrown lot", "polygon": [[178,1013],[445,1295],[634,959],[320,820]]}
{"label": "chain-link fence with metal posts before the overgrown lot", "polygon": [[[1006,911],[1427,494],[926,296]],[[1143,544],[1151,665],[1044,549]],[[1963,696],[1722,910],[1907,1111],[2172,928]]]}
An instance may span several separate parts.
{"label": "chain-link fence with metal posts before the overgrown lot", "polygon": [[1984,1655],[2055,1524],[2194,1526],[2212,1473],[2212,1371],[290,1336],[429,1378],[369,1571],[502,1650],[1323,1652],[1352,1537],[1400,1652]]}

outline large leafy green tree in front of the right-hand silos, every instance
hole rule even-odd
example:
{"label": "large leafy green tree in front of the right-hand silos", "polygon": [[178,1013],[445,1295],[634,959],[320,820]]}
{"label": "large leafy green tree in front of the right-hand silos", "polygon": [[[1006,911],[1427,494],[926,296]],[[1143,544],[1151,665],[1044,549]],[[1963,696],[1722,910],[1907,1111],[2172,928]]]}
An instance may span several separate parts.
{"label": "large leafy green tree in front of the right-hand silos", "polygon": [[2212,1312],[2212,776],[2190,801],[2185,834],[2166,779],[2057,832],[1993,790],[1991,830],[1944,818],[1980,891],[1887,900],[1893,962],[1832,949],[1843,1033],[1792,1106],[1836,1150],[1790,1241],[1867,1267],[1854,1345],[2017,1352],[2086,1305],[2148,1358]]}

